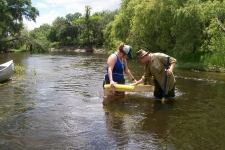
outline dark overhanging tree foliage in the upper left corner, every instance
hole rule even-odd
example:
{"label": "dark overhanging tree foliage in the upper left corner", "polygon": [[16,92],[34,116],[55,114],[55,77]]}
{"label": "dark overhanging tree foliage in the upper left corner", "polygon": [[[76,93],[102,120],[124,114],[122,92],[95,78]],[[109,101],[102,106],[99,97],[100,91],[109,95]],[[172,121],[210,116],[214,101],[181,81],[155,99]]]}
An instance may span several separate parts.
{"label": "dark overhanging tree foliage in the upper left corner", "polygon": [[29,42],[22,31],[23,18],[35,21],[39,12],[31,6],[30,0],[2,0],[0,2],[0,49],[7,51]]}

